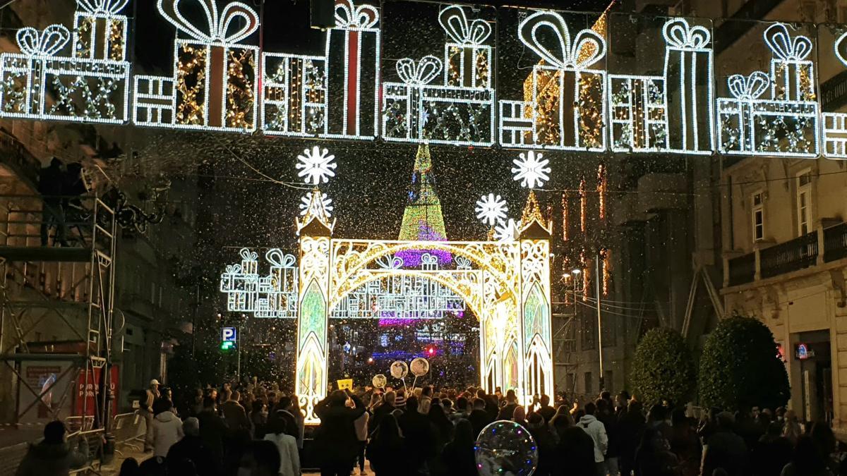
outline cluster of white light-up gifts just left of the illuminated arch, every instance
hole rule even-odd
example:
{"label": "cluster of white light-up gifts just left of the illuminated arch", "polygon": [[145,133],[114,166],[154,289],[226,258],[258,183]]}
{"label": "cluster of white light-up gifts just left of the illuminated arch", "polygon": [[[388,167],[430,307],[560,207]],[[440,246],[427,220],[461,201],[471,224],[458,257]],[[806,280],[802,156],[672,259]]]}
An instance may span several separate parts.
{"label": "cluster of white light-up gifts just left of the illuminated arch", "polygon": [[227,295],[230,312],[252,313],[257,318],[297,317],[297,268],[295,258],[274,248],[265,253],[270,272],[258,274],[258,254],[241,248],[241,263],[226,267],[220,276],[220,292]]}

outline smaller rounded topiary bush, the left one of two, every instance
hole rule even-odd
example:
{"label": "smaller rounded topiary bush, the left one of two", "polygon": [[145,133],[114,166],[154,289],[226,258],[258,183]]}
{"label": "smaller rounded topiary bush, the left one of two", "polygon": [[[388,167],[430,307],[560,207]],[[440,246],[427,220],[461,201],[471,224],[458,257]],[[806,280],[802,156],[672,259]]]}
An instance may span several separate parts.
{"label": "smaller rounded topiary bush, the left one of two", "polygon": [[629,379],[635,396],[647,407],[662,400],[685,401],[697,376],[682,335],[673,329],[650,329],[635,348]]}

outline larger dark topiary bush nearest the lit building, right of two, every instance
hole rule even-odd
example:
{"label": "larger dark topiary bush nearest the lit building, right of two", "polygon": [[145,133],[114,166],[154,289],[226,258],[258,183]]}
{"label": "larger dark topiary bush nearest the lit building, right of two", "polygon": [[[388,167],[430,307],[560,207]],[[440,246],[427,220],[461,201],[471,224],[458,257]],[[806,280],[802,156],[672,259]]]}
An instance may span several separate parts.
{"label": "larger dark topiary bush nearest the lit building, right of two", "polygon": [[756,318],[722,319],[700,357],[700,401],[738,410],[776,408],[790,398],[789,375],[771,329]]}

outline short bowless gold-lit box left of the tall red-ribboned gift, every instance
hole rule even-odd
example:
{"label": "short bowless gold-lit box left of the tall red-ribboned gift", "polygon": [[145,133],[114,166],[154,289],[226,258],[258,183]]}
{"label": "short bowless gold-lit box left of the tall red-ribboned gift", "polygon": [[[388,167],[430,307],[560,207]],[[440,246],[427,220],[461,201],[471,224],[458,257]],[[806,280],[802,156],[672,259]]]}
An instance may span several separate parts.
{"label": "short bowless gold-lit box left of the tall red-ribboned gift", "polygon": [[326,59],[262,55],[262,129],[269,136],[318,136],[326,131]]}

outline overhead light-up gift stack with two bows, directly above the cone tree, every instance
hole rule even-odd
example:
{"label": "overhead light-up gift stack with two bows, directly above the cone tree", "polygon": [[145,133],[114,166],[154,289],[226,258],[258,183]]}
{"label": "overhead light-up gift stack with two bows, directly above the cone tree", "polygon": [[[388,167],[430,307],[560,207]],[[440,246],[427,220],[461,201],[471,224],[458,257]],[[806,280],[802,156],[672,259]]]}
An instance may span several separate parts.
{"label": "overhead light-up gift stack with two bows, directly above the cone tree", "polygon": [[[494,143],[494,64],[485,42],[491,25],[468,19],[470,8],[451,5],[439,14],[448,38],[444,61],[425,56],[397,61],[401,82],[383,84],[382,136],[386,141],[490,146]],[[429,84],[443,72],[442,84]]]}

